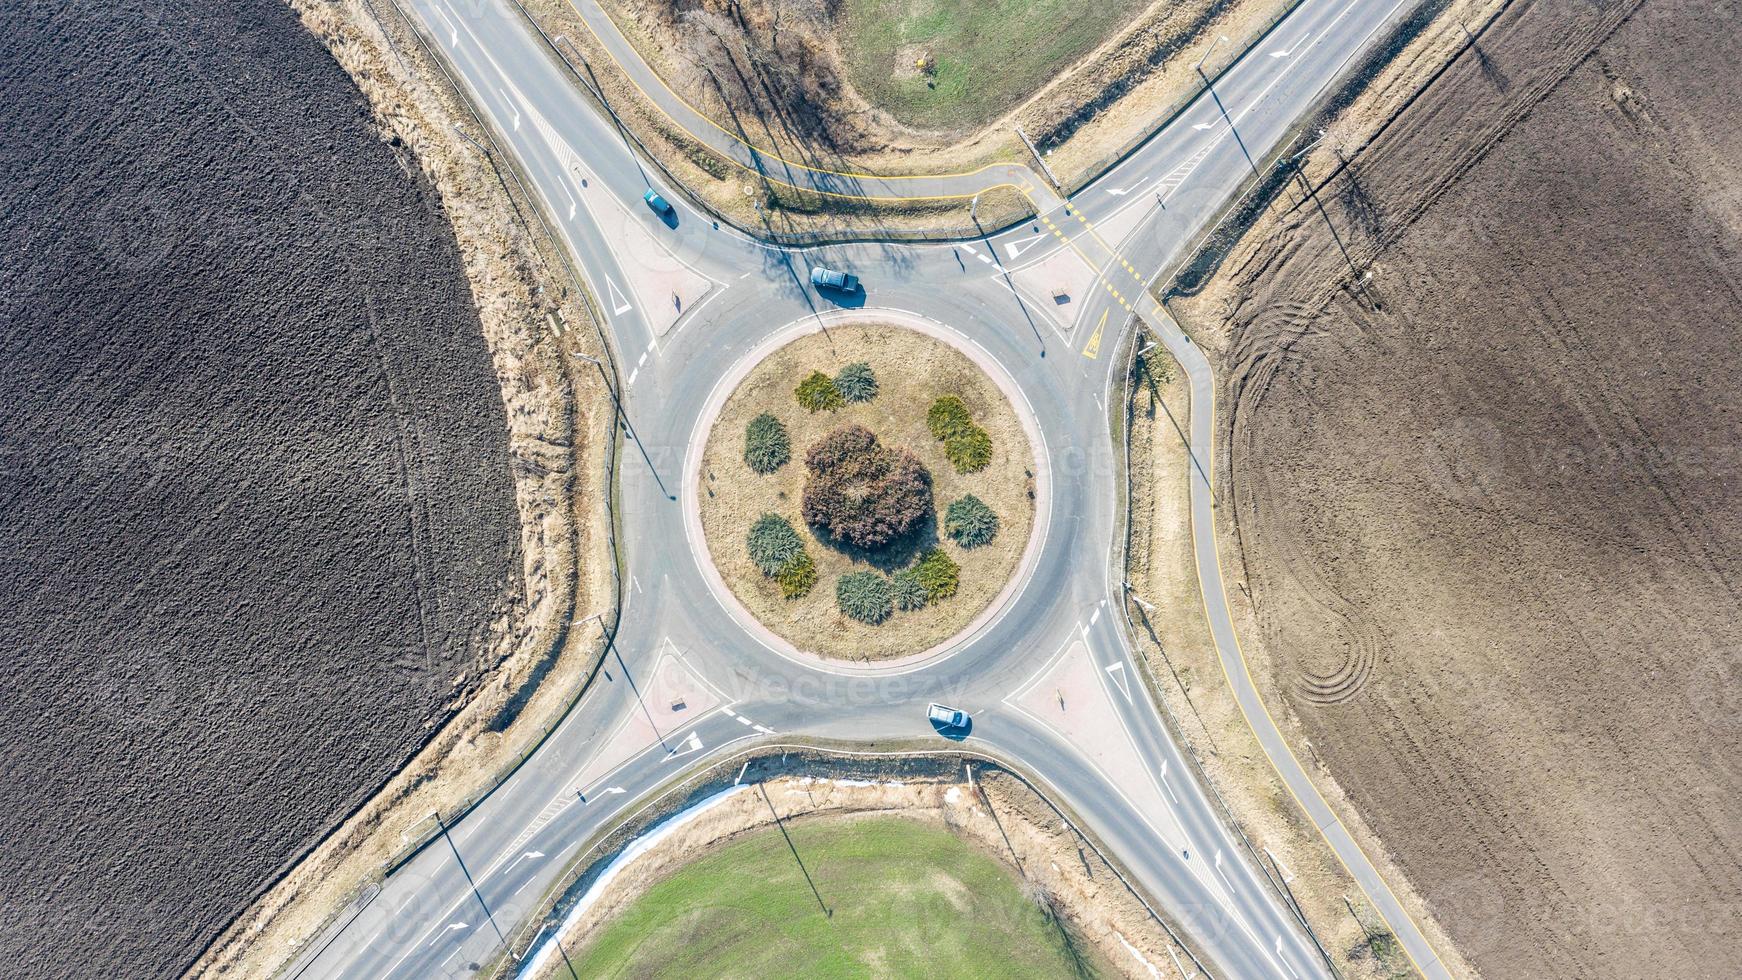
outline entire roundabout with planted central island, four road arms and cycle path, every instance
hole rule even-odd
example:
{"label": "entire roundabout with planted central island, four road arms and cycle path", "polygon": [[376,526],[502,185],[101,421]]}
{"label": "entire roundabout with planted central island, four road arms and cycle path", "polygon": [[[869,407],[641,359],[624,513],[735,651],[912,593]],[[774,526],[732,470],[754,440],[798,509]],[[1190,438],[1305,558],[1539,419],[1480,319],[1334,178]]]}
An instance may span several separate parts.
{"label": "entire roundabout with planted central island, four road arms and cycle path", "polygon": [[[632,151],[622,151],[624,134],[582,97],[584,80],[566,75],[564,61],[542,47],[549,38],[530,33],[507,7],[486,0],[484,9],[500,16],[453,19],[441,0],[409,5],[439,37],[442,57],[493,129],[490,139],[517,158],[577,259],[575,285],[598,299],[613,357],[589,383],[610,385],[618,409],[622,451],[610,533],[620,543],[620,614],[608,628],[577,616],[577,635],[603,628],[606,649],[575,707],[509,778],[463,813],[444,815],[449,820],[441,829],[455,830],[446,844],[432,837],[434,846],[416,849],[381,883],[380,898],[308,936],[298,975],[458,977],[472,963],[517,961],[544,935],[552,889],[571,881],[613,829],[660,806],[683,773],[817,743],[871,752],[949,747],[1031,773],[1118,856],[1122,876],[1153,898],[1151,912],[1181,926],[1190,942],[1181,945],[1183,956],[1197,961],[1202,954],[1232,977],[1329,975],[1287,900],[1259,872],[1256,853],[1230,832],[1193,762],[1174,743],[1144,688],[1148,665],[1125,632],[1127,594],[1118,574],[1125,472],[1115,409],[1125,357],[1134,343],[1148,341],[1165,345],[1192,381],[1181,439],[1200,463],[1188,487],[1195,557],[1205,614],[1240,708],[1289,792],[1317,827],[1329,829],[1333,849],[1397,928],[1399,942],[1425,971],[1444,975],[1359,846],[1345,841],[1347,832],[1244,677],[1214,555],[1212,376],[1205,355],[1148,291],[1150,273],[1240,188],[1252,167],[1249,153],[1279,148],[1322,85],[1394,19],[1395,7],[1303,0],[1279,30],[1340,45],[1310,42],[1287,59],[1237,61],[1214,78],[1214,99],[1181,110],[1157,138],[1070,200],[1024,164],[897,179],[786,162],[763,169],[754,153],[725,146],[723,155],[747,155],[749,162],[739,164],[768,179],[784,176],[820,193],[967,198],[1016,188],[1036,212],[1033,221],[963,242],[789,249],[723,228]],[[632,61],[634,54],[624,57]],[[1284,78],[1291,85],[1279,89]],[[657,80],[648,80],[657,89]],[[683,106],[662,108],[685,125]],[[1235,125],[1239,139],[1232,138]],[[706,127],[685,129],[709,141]],[[721,131],[719,139],[728,138]],[[676,204],[665,219],[643,204],[650,185]],[[636,259],[632,249],[604,232],[618,212],[719,289],[693,306],[678,294],[664,301],[665,287],[625,263]],[[1042,268],[1049,256],[1080,258],[1092,285],[1077,296],[1056,291],[1052,303],[1036,299],[1052,275]],[[812,266],[848,270],[864,291],[812,289]],[[641,308],[643,296],[658,301]],[[845,338],[854,329],[881,327],[953,352],[996,397],[976,400],[955,392],[962,411],[941,413],[951,418],[937,439],[930,406],[949,393],[944,385],[901,392],[899,399],[895,392],[897,374],[922,366],[890,364],[876,345],[827,353],[817,346],[833,339],[831,332]],[[789,345],[794,352],[815,348],[814,357],[782,366],[779,385],[770,383],[760,404],[733,406],[740,386],[754,385],[761,366],[780,364]],[[848,406],[845,393],[862,390],[862,378],[847,369],[861,362],[878,378],[878,393]],[[841,397],[834,407],[827,407],[834,402],[829,386]],[[801,395],[803,404],[796,400]],[[880,404],[897,400],[899,413],[876,414]],[[998,404],[1010,413],[1003,428],[995,421]],[[808,406],[824,418],[812,420]],[[918,406],[925,406],[923,416]],[[768,423],[756,426],[756,446],[749,446],[751,423],[761,414],[784,428],[784,449],[768,435]],[[974,446],[977,437],[960,437],[963,421],[991,442],[986,465],[967,473],[956,472],[956,460],[972,468],[986,453]],[[854,437],[848,472],[822,467],[819,479],[829,486],[812,496],[824,500],[807,507],[814,489],[808,453],[847,425],[873,435],[876,449]],[[1021,451],[1010,433],[1019,433]],[[960,442],[955,449],[937,446],[951,435]],[[902,453],[928,473],[930,498],[906,496],[880,510],[890,493],[918,480]],[[780,477],[784,470],[791,473]],[[777,486],[782,479],[787,482]],[[1010,500],[1012,493],[1026,496],[1028,480],[1033,510],[1023,527],[1021,508],[1012,510]],[[744,491],[753,484],[761,496]],[[995,543],[1021,541],[1002,564],[988,560],[976,569],[969,560],[976,548],[949,536],[949,507],[969,494],[996,517]],[[733,507],[716,510],[704,501]],[[791,540],[749,554],[751,529],[765,513],[787,524],[810,557],[808,573],[789,564]],[[874,519],[859,520],[868,513]],[[874,547],[920,534],[927,547],[855,555],[833,548],[815,526],[827,538]],[[984,534],[984,515],[969,526]],[[939,594],[935,602],[928,592],[923,607],[897,609],[895,576],[930,548],[958,566],[956,592]],[[857,613],[843,614],[841,580],[861,574],[887,580],[887,613],[880,599],[885,585],[876,585],[869,602],[861,602],[864,590],[854,587]],[[808,597],[817,599],[810,618],[784,614],[786,602]],[[885,635],[904,642],[883,644]],[[927,722],[932,701],[972,717],[965,745],[939,738]]]}

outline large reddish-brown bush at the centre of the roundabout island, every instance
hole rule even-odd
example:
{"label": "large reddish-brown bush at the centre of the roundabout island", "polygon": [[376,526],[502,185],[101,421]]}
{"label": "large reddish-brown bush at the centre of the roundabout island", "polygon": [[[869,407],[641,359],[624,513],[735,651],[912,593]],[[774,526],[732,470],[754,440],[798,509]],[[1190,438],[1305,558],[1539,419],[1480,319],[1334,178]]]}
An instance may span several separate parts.
{"label": "large reddish-brown bush at the centre of the roundabout island", "polygon": [[932,512],[932,473],[906,449],[843,425],[805,453],[805,522],[857,548],[901,540]]}

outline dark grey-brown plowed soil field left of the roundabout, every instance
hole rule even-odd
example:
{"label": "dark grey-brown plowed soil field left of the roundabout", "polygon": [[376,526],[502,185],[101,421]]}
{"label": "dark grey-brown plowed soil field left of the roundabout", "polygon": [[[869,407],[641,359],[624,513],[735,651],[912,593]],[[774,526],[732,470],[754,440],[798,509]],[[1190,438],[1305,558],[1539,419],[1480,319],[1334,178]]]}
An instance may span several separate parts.
{"label": "dark grey-brown plowed soil field left of the roundabout", "polygon": [[517,592],[502,397],[275,0],[14,0],[0,91],[0,975],[169,977]]}

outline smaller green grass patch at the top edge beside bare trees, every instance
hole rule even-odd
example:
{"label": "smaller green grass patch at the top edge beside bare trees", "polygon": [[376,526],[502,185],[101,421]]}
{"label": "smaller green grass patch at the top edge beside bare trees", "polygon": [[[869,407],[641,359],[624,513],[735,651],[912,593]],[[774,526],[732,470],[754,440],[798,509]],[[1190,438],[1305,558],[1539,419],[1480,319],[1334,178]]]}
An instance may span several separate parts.
{"label": "smaller green grass patch at the top edge beside bare trees", "polygon": [[[843,0],[848,80],[918,129],[972,129],[1125,26],[1143,0]],[[925,54],[930,75],[915,68]],[[932,82],[935,87],[928,85]]]}

